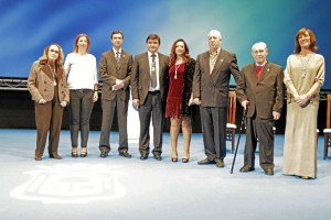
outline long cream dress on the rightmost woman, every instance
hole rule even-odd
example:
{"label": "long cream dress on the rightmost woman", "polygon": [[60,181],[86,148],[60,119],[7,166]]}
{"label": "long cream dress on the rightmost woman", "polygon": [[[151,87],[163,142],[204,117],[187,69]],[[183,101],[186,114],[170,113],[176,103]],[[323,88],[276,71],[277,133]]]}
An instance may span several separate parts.
{"label": "long cream dress on the rightmost woman", "polygon": [[324,57],[320,54],[290,55],[287,59],[284,82],[293,84],[299,95],[307,94],[319,84],[305,107],[295,102],[287,89],[287,114],[282,174],[317,177],[317,119],[319,91],[324,82]]}

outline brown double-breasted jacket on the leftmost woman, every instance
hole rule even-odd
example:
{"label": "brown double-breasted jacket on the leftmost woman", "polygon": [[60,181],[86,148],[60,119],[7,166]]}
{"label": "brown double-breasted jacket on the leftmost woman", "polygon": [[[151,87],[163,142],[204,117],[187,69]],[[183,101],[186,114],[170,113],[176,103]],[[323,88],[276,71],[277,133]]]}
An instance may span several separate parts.
{"label": "brown double-breasted jacket on the leftmost woman", "polygon": [[[70,102],[70,90],[64,69],[60,67],[56,72],[61,72],[62,76],[60,81],[57,81],[58,100],[60,102]],[[29,74],[26,87],[32,96],[32,100],[36,102],[40,99],[51,101],[54,97],[54,81],[50,68],[46,65],[41,65],[39,61],[34,62]]]}

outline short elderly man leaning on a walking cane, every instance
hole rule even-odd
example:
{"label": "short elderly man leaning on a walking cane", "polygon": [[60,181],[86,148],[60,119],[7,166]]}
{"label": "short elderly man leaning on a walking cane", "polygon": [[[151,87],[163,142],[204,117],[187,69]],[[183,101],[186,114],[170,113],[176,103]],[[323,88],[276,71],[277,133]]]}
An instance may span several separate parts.
{"label": "short elderly man leaning on a walking cane", "polygon": [[259,165],[266,175],[274,175],[275,120],[280,118],[284,102],[284,72],[281,66],[267,61],[266,43],[252,46],[255,62],[242,69],[245,96],[239,101],[247,110],[246,145],[242,173],[255,169],[254,160],[259,142]]}

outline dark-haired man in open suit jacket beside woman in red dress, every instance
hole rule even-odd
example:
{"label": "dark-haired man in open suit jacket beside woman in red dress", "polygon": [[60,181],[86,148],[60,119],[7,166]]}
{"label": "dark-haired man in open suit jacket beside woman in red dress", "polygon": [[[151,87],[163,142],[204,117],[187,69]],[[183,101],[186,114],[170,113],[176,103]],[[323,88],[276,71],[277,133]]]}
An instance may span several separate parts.
{"label": "dark-haired man in open suit jacket beside woman in red dress", "polygon": [[147,40],[148,52],[135,56],[131,73],[131,91],[134,106],[139,107],[140,160],[147,160],[150,151],[149,127],[152,118],[152,154],[161,161],[164,105],[167,99],[169,57],[158,53],[160,37],[150,34]]}

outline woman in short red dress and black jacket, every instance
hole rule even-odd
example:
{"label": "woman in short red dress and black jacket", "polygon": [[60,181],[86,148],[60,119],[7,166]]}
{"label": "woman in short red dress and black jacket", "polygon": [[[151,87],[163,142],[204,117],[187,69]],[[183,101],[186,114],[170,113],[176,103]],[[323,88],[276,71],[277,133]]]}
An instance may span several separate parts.
{"label": "woman in short red dress and black jacket", "polygon": [[190,158],[190,142],[192,134],[192,81],[195,61],[190,57],[184,40],[175,40],[171,47],[169,90],[166,106],[166,117],[170,118],[171,161],[178,162],[178,136],[182,128],[184,154],[182,162]]}

